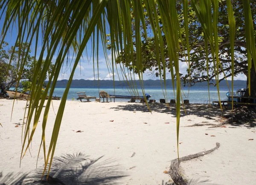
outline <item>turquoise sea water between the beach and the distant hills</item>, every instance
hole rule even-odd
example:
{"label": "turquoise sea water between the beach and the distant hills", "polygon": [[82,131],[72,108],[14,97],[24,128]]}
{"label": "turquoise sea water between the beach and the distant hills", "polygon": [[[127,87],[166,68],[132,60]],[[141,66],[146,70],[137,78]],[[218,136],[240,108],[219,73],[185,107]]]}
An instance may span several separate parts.
{"label": "turquoise sea water between the beach and the distant hills", "polygon": [[[55,88],[53,96],[59,96],[62,97],[64,93],[64,88]],[[67,100],[73,100],[73,101],[79,101],[76,100],[78,97],[77,92],[85,92],[88,96],[96,96],[99,97],[99,90],[105,90],[108,94],[116,94],[116,95],[131,95],[129,90],[127,88],[116,88],[115,93],[113,88],[70,88]],[[220,97],[221,100],[226,100],[227,96],[226,93],[228,91],[228,88],[221,88],[220,89]],[[143,95],[142,90],[138,90],[139,95]],[[207,104],[209,103],[209,97],[208,97],[208,87],[192,87],[189,90],[189,97],[188,95],[188,88],[183,89],[184,94],[183,99],[189,99],[190,103],[202,103]],[[131,92],[132,93],[132,92]],[[149,99],[155,99],[156,102],[159,102],[160,99],[164,98],[163,90],[161,88],[145,88],[145,93],[148,93],[151,95],[151,98]],[[164,91],[165,93],[165,91]],[[134,93],[133,93],[134,94]],[[174,93],[172,89],[166,90],[166,98],[168,101],[170,99],[175,99]],[[166,95],[165,94],[165,95]],[[116,98],[116,101],[122,101],[127,102],[130,99],[123,99],[123,98]],[[218,91],[216,90],[216,87],[210,88],[210,101],[217,101],[218,100]],[[92,100],[93,101],[93,100]]]}

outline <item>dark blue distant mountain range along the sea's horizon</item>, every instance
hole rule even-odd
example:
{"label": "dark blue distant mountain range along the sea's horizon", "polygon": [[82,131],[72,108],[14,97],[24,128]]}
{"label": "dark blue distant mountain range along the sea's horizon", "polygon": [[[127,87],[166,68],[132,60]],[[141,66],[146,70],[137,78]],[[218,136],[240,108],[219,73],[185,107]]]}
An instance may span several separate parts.
{"label": "dark blue distant mountain range along the sea's horizon", "polygon": [[[67,86],[68,80],[60,80],[57,81],[56,87],[64,88]],[[140,85],[140,81],[135,81],[137,85]],[[131,81],[115,81],[115,87],[122,87],[126,86],[127,84],[132,84]],[[133,82],[134,83],[134,82]],[[163,83],[163,81],[162,81]],[[213,81],[214,83],[214,81]],[[97,88],[97,87],[113,87],[113,80],[73,80],[71,84],[71,88]],[[144,80],[143,81],[144,87],[161,87],[160,80]],[[229,86],[231,87],[231,81],[228,81]],[[176,81],[175,81],[176,85]],[[213,87],[213,85],[211,85]],[[227,82],[221,81],[219,84],[220,87],[227,87]],[[172,87],[172,80],[166,80],[166,87]],[[207,82],[196,83],[193,87],[207,87]],[[234,81],[234,87],[238,88],[246,88],[246,81],[243,80],[236,80]]]}

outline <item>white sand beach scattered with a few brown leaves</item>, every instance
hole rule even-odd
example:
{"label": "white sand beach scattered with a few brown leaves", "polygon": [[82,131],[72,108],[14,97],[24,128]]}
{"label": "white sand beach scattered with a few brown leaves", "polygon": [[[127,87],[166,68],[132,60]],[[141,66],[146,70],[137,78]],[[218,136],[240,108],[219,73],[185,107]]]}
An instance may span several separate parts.
{"label": "white sand beach scattered with a few brown leaves", "polygon": [[[42,172],[44,155],[38,158],[41,143],[40,118],[30,153],[21,161],[21,132],[26,101],[0,99],[0,184],[35,184]],[[60,101],[53,101],[57,113]],[[66,185],[116,184],[165,185],[171,184],[171,160],[177,158],[175,107],[164,104],[125,102],[67,101],[58,143],[57,160],[51,174]],[[256,183],[256,127],[232,126],[208,128],[184,127],[195,123],[218,124],[221,110],[207,105],[186,105],[180,118],[180,157],[220,147],[205,156],[181,162],[183,178],[203,184],[255,185]],[[52,107],[47,121],[46,141],[49,147],[55,120]],[[77,131],[81,132],[77,132]],[[208,135],[206,135],[206,133]],[[249,140],[254,139],[254,140]],[[48,148],[47,148],[48,150]],[[79,155],[80,153],[80,155]],[[76,156],[83,158],[76,160]],[[86,156],[86,157],[84,157]],[[64,166],[69,159],[72,162]],[[86,159],[86,160],[85,160]],[[65,169],[67,168],[67,170]],[[59,171],[58,174],[55,174]]]}

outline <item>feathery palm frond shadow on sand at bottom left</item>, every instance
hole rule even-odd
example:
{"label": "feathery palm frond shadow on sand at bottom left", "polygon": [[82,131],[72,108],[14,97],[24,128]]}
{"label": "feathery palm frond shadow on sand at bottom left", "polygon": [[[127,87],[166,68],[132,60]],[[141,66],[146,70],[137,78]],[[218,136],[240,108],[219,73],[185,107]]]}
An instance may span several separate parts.
{"label": "feathery palm frond shadow on sand at bottom left", "polygon": [[[0,173],[0,185],[114,185],[118,179],[125,177],[124,169],[114,159],[90,159],[83,153],[66,154],[55,157],[46,182],[46,175],[41,181],[44,167],[31,173]],[[46,173],[47,174],[47,173]]]}

